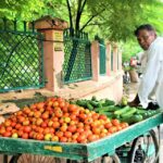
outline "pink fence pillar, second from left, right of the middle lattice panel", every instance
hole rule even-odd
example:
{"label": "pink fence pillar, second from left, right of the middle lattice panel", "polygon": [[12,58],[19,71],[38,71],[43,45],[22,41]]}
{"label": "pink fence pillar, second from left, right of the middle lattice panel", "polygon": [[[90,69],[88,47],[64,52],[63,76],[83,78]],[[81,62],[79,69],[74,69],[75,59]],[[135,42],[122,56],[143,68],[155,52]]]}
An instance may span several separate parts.
{"label": "pink fence pillar, second from left, right of the middle lattice panel", "polygon": [[98,41],[91,42],[92,80],[98,82],[100,76],[100,46]]}

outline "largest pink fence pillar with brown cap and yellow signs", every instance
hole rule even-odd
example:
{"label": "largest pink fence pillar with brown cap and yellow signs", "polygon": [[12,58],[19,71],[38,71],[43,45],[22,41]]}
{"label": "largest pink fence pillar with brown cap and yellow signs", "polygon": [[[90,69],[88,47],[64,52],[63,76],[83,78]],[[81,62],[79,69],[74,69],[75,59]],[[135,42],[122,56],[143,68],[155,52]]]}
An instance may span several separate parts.
{"label": "largest pink fence pillar with brown cap and yellow signs", "polygon": [[47,79],[46,88],[51,91],[58,90],[62,84],[62,65],[64,62],[63,29],[66,27],[66,22],[50,16],[45,16],[35,22],[35,28],[45,36],[43,64]]}

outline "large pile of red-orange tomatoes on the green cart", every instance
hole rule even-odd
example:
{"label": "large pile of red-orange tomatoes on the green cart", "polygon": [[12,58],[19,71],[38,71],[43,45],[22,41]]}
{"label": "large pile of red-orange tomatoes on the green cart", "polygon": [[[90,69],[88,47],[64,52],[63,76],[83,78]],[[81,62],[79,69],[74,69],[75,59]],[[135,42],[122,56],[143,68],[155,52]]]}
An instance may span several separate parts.
{"label": "large pile of red-orange tomatoes on the green cart", "polygon": [[0,136],[87,143],[128,126],[118,120],[71,104],[62,98],[25,106],[0,124]]}

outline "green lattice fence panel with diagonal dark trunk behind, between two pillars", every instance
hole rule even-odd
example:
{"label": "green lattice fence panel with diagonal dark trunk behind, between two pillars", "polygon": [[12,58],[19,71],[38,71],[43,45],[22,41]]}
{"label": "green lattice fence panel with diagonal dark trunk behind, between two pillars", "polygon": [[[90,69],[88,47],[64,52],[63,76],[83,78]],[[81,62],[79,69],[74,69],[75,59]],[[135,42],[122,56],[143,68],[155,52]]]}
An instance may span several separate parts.
{"label": "green lattice fence panel with diagonal dark trunk behind, between two pillars", "polygon": [[63,82],[65,84],[91,79],[90,42],[85,33],[72,37],[66,29],[64,33],[64,64]]}

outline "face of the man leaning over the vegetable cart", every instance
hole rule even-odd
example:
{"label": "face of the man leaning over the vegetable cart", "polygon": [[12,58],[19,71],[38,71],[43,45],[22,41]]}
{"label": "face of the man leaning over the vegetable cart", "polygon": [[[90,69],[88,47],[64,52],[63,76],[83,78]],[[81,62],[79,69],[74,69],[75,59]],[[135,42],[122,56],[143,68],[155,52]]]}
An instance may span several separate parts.
{"label": "face of the man leaning over the vegetable cart", "polygon": [[154,32],[149,32],[147,29],[139,30],[139,35],[137,36],[137,40],[140,47],[143,50],[148,50],[152,41],[155,39],[156,35]]}

